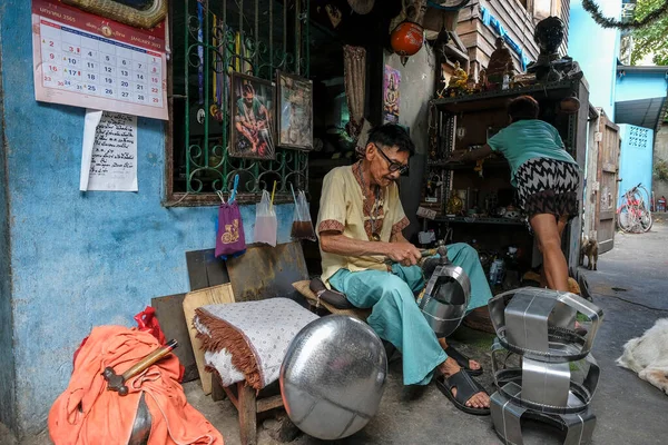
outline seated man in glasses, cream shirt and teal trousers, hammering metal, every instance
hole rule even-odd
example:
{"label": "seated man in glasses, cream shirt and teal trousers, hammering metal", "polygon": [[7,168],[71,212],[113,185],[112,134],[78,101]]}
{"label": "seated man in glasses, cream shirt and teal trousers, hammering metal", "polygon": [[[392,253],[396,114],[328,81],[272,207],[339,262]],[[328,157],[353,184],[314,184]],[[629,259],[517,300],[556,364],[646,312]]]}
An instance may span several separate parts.
{"label": "seated man in glasses, cream shirt and teal trousers, hammering metal", "polygon": [[[362,160],[325,176],[316,229],[322,279],[354,306],[372,308],[369,325],[403,354],[404,385],[426,385],[435,374],[458,408],[489,414],[490,398],[471,377],[481,374],[480,365],[439,340],[415,301],[424,287],[421,254],[402,235],[409,219],[396,186],[413,152],[401,127],[383,125],[370,132]],[[492,294],[475,250],[464,244],[448,248],[471,280],[469,310],[485,306]],[[386,258],[396,264],[387,267]]]}

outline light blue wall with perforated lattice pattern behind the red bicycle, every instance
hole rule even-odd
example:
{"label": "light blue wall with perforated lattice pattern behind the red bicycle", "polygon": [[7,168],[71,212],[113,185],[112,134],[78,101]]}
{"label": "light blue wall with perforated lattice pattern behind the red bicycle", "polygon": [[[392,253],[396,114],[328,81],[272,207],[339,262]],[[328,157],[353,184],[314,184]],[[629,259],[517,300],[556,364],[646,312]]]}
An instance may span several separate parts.
{"label": "light blue wall with perforated lattice pattern behind the red bicycle", "polygon": [[651,190],[651,169],[654,154],[654,130],[628,123],[619,126],[621,152],[619,156],[618,205],[623,194],[631,187],[642,184]]}

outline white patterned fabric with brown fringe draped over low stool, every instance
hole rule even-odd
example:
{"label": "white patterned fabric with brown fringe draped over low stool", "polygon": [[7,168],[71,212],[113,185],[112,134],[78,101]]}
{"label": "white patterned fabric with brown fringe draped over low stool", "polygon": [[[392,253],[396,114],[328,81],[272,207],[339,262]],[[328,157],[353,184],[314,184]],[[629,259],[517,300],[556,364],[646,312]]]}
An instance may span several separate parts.
{"label": "white patterned fabric with brown fringe draped over low stool", "polygon": [[288,298],[269,298],[197,309],[205,360],[225,386],[244,378],[256,389],[278,379],[293,338],[318,317]]}

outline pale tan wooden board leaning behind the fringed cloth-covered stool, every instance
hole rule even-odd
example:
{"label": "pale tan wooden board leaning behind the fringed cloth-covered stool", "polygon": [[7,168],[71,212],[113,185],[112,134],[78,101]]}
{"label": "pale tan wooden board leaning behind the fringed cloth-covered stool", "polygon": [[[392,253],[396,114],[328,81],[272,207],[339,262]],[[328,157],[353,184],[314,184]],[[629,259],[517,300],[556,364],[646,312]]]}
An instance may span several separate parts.
{"label": "pale tan wooden board leaning behind the fringed cloth-covered stool", "polygon": [[193,326],[195,309],[206,305],[224,305],[229,303],[234,303],[234,293],[230,284],[194,290],[188,293],[184,299],[184,315],[186,325],[188,326],[190,343],[193,344],[193,353],[195,355],[195,362],[197,363],[197,370],[199,372],[202,389],[204,390],[205,395],[212,393],[212,375],[205,370],[202,342],[197,338],[197,329],[195,329],[195,326]]}

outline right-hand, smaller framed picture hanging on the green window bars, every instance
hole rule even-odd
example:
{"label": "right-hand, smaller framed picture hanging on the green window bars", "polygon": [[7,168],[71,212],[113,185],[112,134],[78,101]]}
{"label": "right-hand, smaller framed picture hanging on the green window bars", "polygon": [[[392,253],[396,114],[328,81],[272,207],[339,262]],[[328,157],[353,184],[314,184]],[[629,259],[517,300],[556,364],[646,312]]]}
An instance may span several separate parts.
{"label": "right-hand, smaller framed picture hanging on the green window bars", "polygon": [[276,73],[278,85],[278,145],[313,150],[313,82],[302,77]]}

